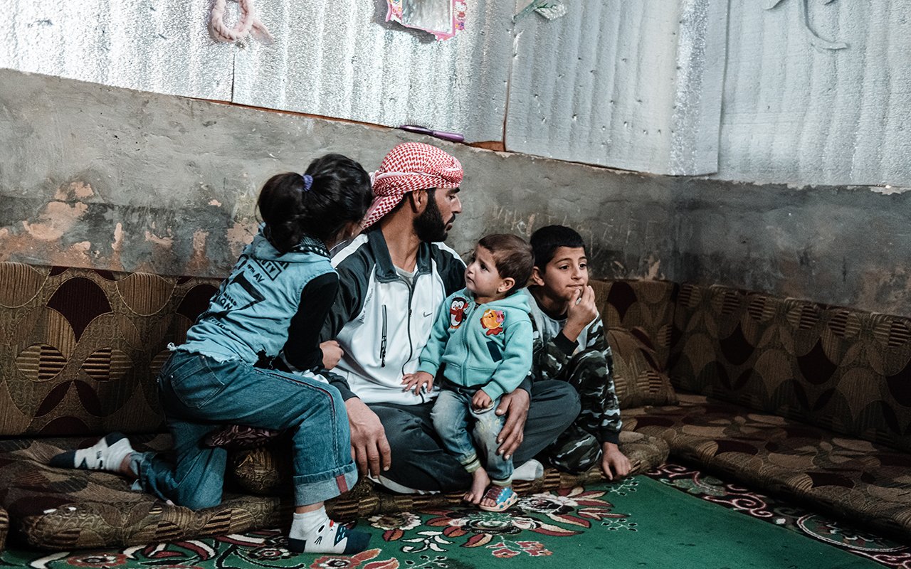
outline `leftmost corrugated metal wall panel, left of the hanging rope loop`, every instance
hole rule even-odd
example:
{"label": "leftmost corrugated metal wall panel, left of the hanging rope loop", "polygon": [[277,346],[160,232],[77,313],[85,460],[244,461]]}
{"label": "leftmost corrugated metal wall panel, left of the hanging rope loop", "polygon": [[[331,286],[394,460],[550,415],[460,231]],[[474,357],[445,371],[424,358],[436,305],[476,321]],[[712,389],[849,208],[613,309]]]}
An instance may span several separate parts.
{"label": "leftmost corrugated metal wall panel, left of the hanging rope loop", "polygon": [[210,39],[209,6],[209,0],[5,2],[0,67],[230,100],[235,48]]}

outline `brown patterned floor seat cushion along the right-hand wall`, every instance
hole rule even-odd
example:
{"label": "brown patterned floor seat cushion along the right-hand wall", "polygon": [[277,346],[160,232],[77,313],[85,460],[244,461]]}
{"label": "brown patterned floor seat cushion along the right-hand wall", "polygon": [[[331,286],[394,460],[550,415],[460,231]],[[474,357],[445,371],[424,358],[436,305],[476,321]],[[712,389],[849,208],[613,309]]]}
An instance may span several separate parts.
{"label": "brown patterned floor seat cushion along the right-hand wall", "polygon": [[742,483],[783,493],[859,527],[911,540],[911,455],[701,395],[630,410],[625,428]]}

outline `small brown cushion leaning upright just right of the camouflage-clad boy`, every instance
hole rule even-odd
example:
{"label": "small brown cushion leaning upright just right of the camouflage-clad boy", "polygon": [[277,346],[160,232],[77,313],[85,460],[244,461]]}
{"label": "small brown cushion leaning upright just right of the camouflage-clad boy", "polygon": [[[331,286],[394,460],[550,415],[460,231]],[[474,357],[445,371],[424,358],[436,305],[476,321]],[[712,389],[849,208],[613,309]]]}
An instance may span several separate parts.
{"label": "small brown cushion leaning upright just right of the camouflage-clad boy", "polygon": [[620,409],[641,405],[672,405],[677,393],[644,330],[610,328],[608,343],[614,357],[614,388]]}

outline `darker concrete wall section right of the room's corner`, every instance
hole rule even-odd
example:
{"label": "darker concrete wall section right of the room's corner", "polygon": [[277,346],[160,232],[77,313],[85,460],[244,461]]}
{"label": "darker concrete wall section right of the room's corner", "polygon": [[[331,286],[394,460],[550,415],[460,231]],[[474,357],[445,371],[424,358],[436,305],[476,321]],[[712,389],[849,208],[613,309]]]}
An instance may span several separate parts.
{"label": "darker concrete wall section right of the room's corner", "polygon": [[676,280],[911,315],[911,191],[678,179]]}

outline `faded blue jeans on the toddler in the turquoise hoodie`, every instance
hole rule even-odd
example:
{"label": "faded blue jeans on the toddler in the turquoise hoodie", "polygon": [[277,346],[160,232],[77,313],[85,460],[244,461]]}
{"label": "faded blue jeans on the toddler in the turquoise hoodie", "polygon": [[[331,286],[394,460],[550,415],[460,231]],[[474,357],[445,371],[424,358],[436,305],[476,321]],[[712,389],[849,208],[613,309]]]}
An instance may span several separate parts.
{"label": "faded blue jeans on the toddler in the turquoise hoodie", "polygon": [[480,462],[483,462],[491,481],[500,485],[511,483],[512,459],[496,453],[499,447],[496,436],[506,422],[505,417],[495,412],[499,401],[494,401],[486,410],[475,411],[471,407],[471,398],[476,390],[448,385],[442,387],[430,418],[446,451],[453,453],[468,472],[475,472],[482,465],[478,461],[480,453],[483,458]]}

